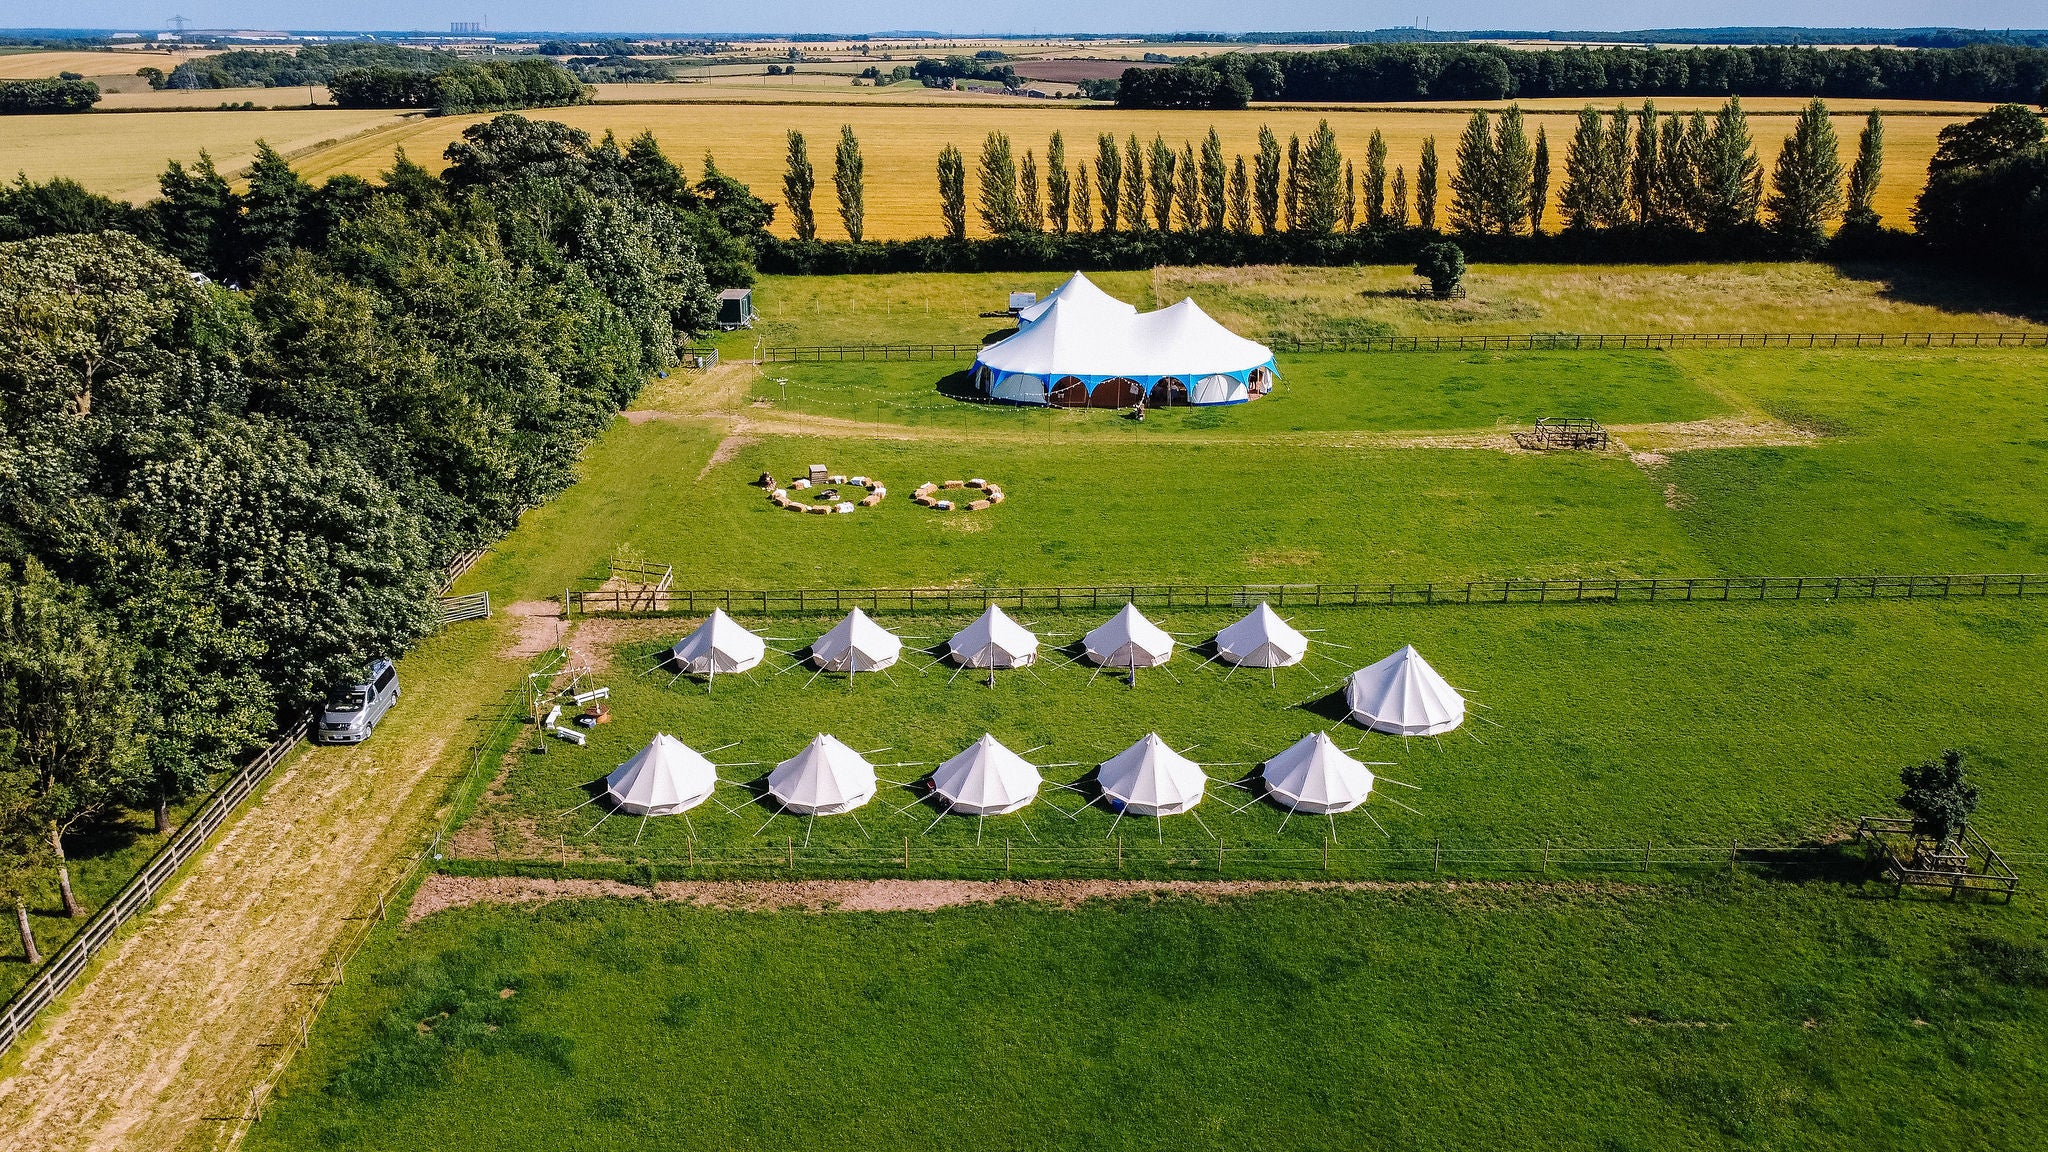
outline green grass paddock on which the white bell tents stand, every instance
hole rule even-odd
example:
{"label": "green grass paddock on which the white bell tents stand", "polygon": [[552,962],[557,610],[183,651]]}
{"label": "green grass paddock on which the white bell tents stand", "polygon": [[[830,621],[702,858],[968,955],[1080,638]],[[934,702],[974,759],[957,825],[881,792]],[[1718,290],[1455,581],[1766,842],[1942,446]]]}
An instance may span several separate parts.
{"label": "green grass paddock on which the white bell tents stand", "polygon": [[[993,687],[985,687],[985,672],[954,676],[946,664],[932,666],[932,656],[911,656],[889,676],[848,683],[813,678],[809,668],[764,668],[719,678],[713,691],[694,681],[670,683],[668,672],[639,674],[688,631],[688,621],[649,621],[653,627],[637,629],[647,637],[612,652],[602,676],[616,719],[594,730],[586,748],[549,742],[545,754],[510,760],[483,810],[481,826],[496,836],[485,855],[682,865],[692,853],[778,855],[795,838],[852,853],[846,863],[858,865],[862,857],[897,859],[909,836],[918,849],[948,851],[1008,840],[1020,873],[1061,875],[1112,871],[1104,847],[1114,828],[1133,842],[1157,838],[1169,847],[1167,865],[1198,865],[1210,875],[1219,838],[1233,849],[1294,853],[1264,861],[1245,853],[1231,861],[1239,875],[1317,871],[1315,849],[1325,836],[1407,853],[1432,842],[1454,851],[1536,849],[1546,840],[1571,849],[1634,845],[1640,857],[1647,838],[1825,842],[1853,826],[1858,814],[1888,812],[1898,767],[1939,746],[1972,750],[1991,797],[1982,812],[1987,834],[2015,853],[2048,849],[2036,836],[2048,820],[2048,791],[2028,771],[2048,754],[2038,709],[2028,705],[2028,668],[2048,662],[2048,605],[2040,603],[1290,609],[1296,627],[1317,629],[1305,664],[1274,674],[1231,672],[1202,666],[1208,650],[1190,650],[1165,670],[1139,672],[1135,687],[1120,674],[1065,666],[1069,656],[1051,652],[1073,646],[1108,615],[1026,615],[1044,633],[1047,658],[1034,672],[999,672]],[[1196,646],[1241,613],[1153,615]],[[885,623],[911,648],[934,648],[969,619],[889,615]],[[778,648],[795,650],[831,623],[774,617],[754,627],[788,637]],[[1346,715],[1341,676],[1401,644],[1415,644],[1479,701],[1466,726],[1440,740],[1335,728]],[[1675,715],[1686,724],[1671,724]],[[1020,816],[936,824],[938,810],[915,804],[920,793],[905,787],[885,787],[858,820],[770,820],[766,808],[743,808],[750,793],[739,787],[721,787],[723,804],[696,808],[688,820],[602,818],[598,806],[578,808],[592,795],[590,781],[655,732],[700,750],[739,742],[713,756],[752,763],[725,771],[731,781],[766,777],[817,732],[856,750],[887,748],[870,756],[877,765],[920,765],[877,769],[895,781],[922,777],[983,732],[1014,750],[1042,748],[1032,756],[1038,763],[1073,765],[1047,769],[1047,779],[1081,781],[1096,763],[1159,732],[1214,765],[1212,779],[1235,781],[1315,730],[1335,730],[1339,744],[1358,748],[1364,760],[1393,760],[1397,767],[1384,775],[1423,791],[1382,787],[1382,795],[1417,812],[1374,801],[1372,818],[1292,818],[1282,830],[1282,812],[1266,804],[1233,814],[1251,793],[1221,783],[1198,818],[1122,822],[1061,789],[1047,789]],[[1178,861],[1180,853],[1190,859]],[[1348,857],[1337,871],[1382,875],[1417,863],[1427,867],[1427,855]],[[1157,865],[1157,853],[1149,853],[1145,869]],[[1004,863],[995,855],[936,855],[918,871],[989,867]]]}

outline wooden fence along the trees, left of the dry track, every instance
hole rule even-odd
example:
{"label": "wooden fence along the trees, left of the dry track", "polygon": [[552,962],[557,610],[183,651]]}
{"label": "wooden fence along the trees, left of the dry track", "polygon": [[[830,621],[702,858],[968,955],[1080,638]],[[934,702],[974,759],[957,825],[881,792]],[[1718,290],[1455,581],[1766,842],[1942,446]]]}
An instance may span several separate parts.
{"label": "wooden fence along the trees, left of the dry track", "polygon": [[0,1009],[0,1056],[14,1047],[14,1041],[29,1031],[29,1025],[35,1023],[43,1009],[86,972],[92,957],[113,943],[123,924],[150,908],[156,894],[176,877],[186,861],[205,849],[213,832],[227,822],[270,771],[291,756],[299,742],[305,740],[311,719],[311,715],[301,717],[248,765],[223,779],[184,826],[164,840],[164,847],[150,857],[150,863],[129,877],[121,886],[121,892],[100,906],[78,935],[57,949],[57,955],[49,957],[43,970],[8,1000],[6,1009]]}

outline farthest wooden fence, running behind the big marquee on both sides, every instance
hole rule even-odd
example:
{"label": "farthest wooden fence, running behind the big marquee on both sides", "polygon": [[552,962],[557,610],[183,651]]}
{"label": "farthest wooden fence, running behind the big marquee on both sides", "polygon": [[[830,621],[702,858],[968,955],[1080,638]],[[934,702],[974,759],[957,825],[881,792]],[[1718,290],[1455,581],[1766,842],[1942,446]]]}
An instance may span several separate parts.
{"label": "farthest wooden fence, running behind the big marquee on both sides", "polygon": [[[971,361],[987,344],[791,344],[762,363]],[[1491,336],[1274,338],[1276,353],[1561,353],[1620,348],[2048,348],[2048,332],[1499,332]]]}

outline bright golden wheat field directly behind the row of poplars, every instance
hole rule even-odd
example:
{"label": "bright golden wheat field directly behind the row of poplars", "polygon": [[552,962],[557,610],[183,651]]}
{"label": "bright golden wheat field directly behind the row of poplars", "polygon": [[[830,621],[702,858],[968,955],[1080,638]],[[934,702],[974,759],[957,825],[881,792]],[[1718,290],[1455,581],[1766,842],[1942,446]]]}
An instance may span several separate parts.
{"label": "bright golden wheat field directly behind the row of poplars", "polygon": [[[1456,135],[1464,127],[1462,113],[1303,113],[1303,111],[1243,111],[1243,113],[1143,113],[1092,109],[1075,105],[1010,105],[1010,107],[805,107],[805,105],[606,105],[582,109],[553,109],[551,119],[571,123],[590,133],[606,129],[621,139],[641,131],[653,131],[662,146],[676,160],[694,170],[702,166],[705,152],[717,156],[719,166],[745,180],[754,191],[770,201],[782,197],[782,154],[784,133],[803,131],[811,146],[813,164],[819,168],[817,217],[819,236],[838,238],[838,213],[831,205],[831,146],[840,125],[852,123],[860,135],[860,152],[866,160],[866,234],[874,240],[895,240],[928,236],[938,232],[938,180],[934,164],[938,150],[948,141],[973,156],[989,131],[1010,133],[1016,152],[1024,150],[1044,156],[1044,141],[1053,131],[1067,139],[1067,162],[1083,158],[1094,162],[1096,137],[1114,133],[1118,141],[1130,133],[1151,139],[1165,135],[1176,148],[1188,139],[1200,139],[1210,125],[1223,137],[1227,154],[1251,154],[1257,148],[1257,129],[1272,125],[1282,139],[1288,133],[1311,133],[1319,119],[1329,119],[1337,133],[1337,143],[1346,156],[1364,162],[1366,141],[1374,129],[1386,135],[1389,168],[1403,166],[1413,184],[1415,160],[1421,154],[1425,135],[1436,135],[1438,154],[1444,162],[1444,199],[1448,201],[1450,158]],[[369,133],[336,148],[319,150],[301,162],[309,176],[352,172],[369,176],[385,168],[391,150],[403,146],[406,154],[422,164],[434,164],[451,139],[479,117],[426,119],[395,125]],[[1552,189],[1563,184],[1565,139],[1571,135],[1575,117],[1565,113],[1544,113],[1530,117],[1530,133],[1544,127],[1552,141]],[[1884,182],[1878,189],[1878,211],[1894,225],[1907,223],[1907,211],[1927,172],[1933,156],[1935,133],[1954,123],[1950,117],[1901,115],[1884,123]],[[1853,156],[1860,117],[1835,117],[1835,131],[1843,137],[1843,162]],[[1765,166],[1776,156],[1778,143],[1792,131],[1792,117],[1757,115],[1751,119],[1757,152]],[[1554,193],[1552,193],[1554,195]],[[778,213],[776,228],[786,230],[786,213]],[[1554,215],[1552,215],[1554,223]]]}

